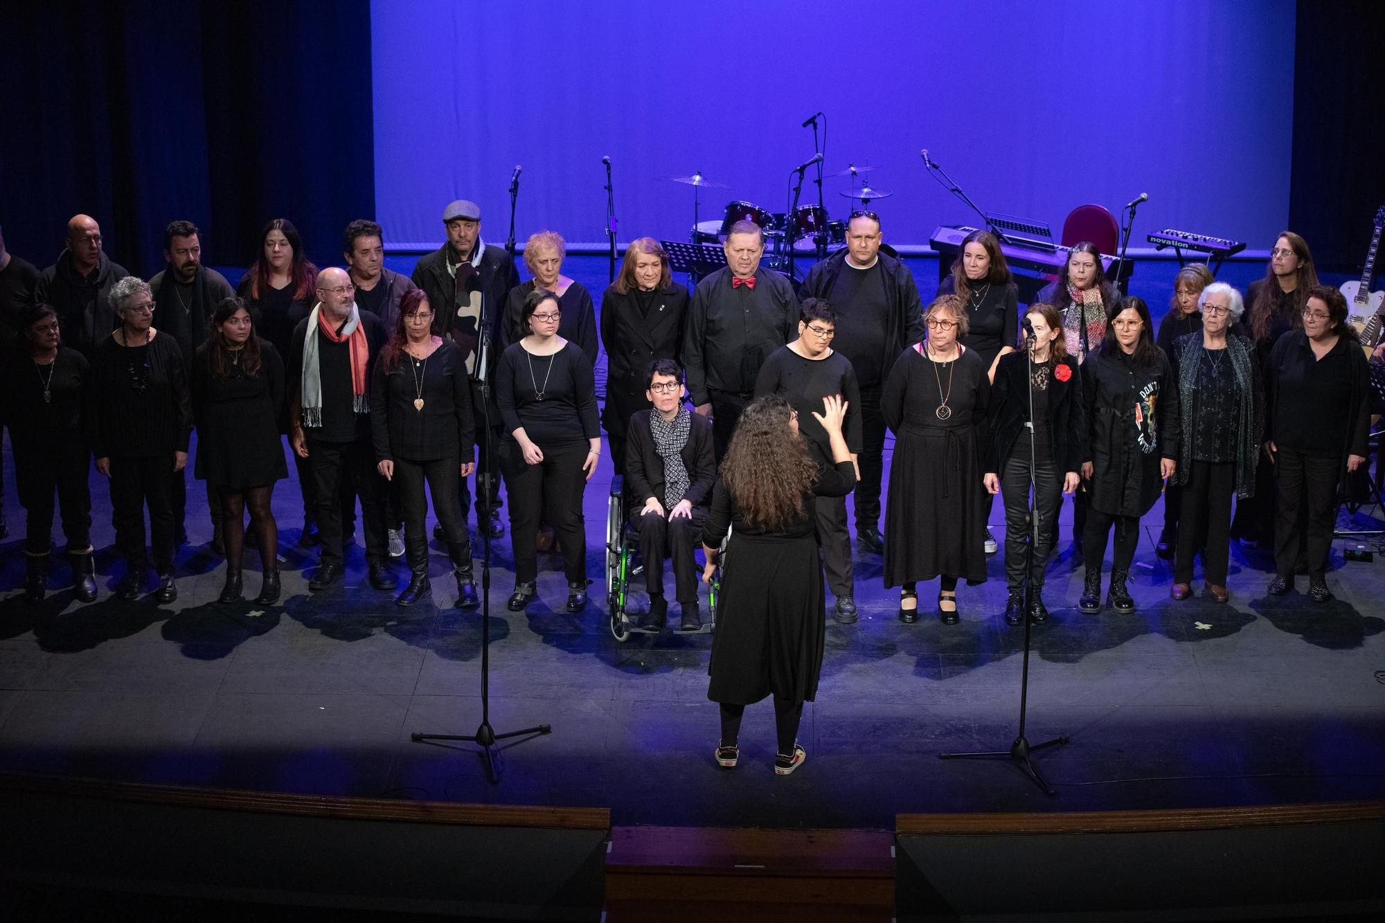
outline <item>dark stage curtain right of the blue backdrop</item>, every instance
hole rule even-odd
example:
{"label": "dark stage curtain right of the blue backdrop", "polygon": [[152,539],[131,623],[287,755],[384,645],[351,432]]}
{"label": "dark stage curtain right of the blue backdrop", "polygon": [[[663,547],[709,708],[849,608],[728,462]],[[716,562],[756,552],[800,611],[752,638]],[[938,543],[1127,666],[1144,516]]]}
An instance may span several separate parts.
{"label": "dark stage curtain right of the blue backdrop", "polygon": [[1379,0],[1298,3],[1289,227],[1307,240],[1320,269],[1359,273],[1371,218],[1385,205],[1382,36]]}

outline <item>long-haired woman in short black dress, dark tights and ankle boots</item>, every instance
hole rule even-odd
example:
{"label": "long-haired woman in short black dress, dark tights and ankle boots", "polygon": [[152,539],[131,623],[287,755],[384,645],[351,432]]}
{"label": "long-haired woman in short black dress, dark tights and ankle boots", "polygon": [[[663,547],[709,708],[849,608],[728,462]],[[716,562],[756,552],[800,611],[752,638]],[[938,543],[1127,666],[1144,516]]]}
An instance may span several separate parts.
{"label": "long-haired woman in short black dress, dark tights and ankle boots", "polygon": [[274,482],[288,477],[278,420],[284,407],[284,360],[255,333],[245,302],[227,298],[212,315],[212,331],[193,359],[194,474],[216,486],[226,538],[226,585],[220,603],[241,599],[245,510],[251,513],[263,581],[255,601],[278,601],[278,522]]}

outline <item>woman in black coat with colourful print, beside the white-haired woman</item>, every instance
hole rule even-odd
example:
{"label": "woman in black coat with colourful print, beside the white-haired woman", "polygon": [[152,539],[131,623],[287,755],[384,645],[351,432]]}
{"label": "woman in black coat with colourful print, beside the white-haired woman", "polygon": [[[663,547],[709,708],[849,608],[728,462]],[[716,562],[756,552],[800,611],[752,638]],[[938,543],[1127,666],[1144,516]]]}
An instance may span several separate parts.
{"label": "woman in black coat with colourful print, beside the white-haired woman", "polygon": [[1140,298],[1111,305],[1101,345],[1082,364],[1087,452],[1086,582],[1078,608],[1101,611],[1101,561],[1115,529],[1107,603],[1133,613],[1126,589],[1140,540],[1140,517],[1150,511],[1179,457],[1179,389],[1163,351],[1154,345],[1150,309]]}

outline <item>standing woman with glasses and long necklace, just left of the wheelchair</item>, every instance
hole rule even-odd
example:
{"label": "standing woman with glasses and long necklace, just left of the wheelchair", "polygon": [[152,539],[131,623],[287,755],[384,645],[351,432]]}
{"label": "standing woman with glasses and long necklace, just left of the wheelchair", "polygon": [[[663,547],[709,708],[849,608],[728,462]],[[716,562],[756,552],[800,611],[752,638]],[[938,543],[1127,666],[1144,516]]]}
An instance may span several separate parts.
{"label": "standing woman with glasses and long necklace, just left of the wheelchair", "polygon": [[561,301],[551,291],[530,291],[519,308],[529,333],[510,344],[496,367],[496,405],[504,438],[500,471],[510,498],[510,536],[515,554],[515,590],[507,607],[524,610],[537,595],[535,532],[547,513],[562,543],[568,611],[587,604],[587,539],[582,493],[601,457],[596,378],[591,362],[558,335]]}

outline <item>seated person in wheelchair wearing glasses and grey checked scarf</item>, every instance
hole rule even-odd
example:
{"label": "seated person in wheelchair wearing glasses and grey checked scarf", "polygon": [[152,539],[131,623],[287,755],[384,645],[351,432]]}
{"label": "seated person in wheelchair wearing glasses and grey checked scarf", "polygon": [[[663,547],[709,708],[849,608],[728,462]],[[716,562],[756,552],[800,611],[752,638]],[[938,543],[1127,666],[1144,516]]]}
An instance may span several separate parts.
{"label": "seated person in wheelchair wearing glasses and grey checked scarf", "polygon": [[644,376],[644,396],[652,410],[637,410],[626,430],[625,500],[627,520],[640,534],[644,586],[650,613],[645,631],[662,631],[669,603],[663,597],[663,559],[673,559],[674,593],[681,628],[702,626],[697,603],[697,561],[692,549],[702,535],[706,504],[716,480],[712,423],[683,403],[683,367],[655,359]]}

